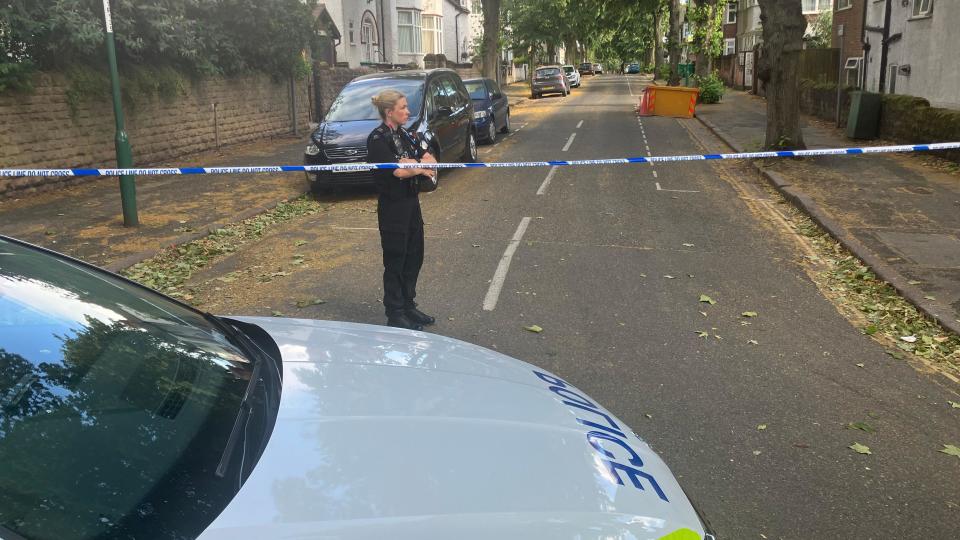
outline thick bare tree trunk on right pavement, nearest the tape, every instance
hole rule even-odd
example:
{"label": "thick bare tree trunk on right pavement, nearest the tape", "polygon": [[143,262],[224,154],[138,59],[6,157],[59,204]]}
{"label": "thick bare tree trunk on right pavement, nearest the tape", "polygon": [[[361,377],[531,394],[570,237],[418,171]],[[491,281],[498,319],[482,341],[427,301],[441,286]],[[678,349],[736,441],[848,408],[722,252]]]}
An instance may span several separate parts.
{"label": "thick bare tree trunk on right pavement, nearest the tape", "polygon": [[767,94],[767,148],[806,148],[800,130],[797,71],[807,20],[800,2],[759,0],[763,44],[757,77]]}

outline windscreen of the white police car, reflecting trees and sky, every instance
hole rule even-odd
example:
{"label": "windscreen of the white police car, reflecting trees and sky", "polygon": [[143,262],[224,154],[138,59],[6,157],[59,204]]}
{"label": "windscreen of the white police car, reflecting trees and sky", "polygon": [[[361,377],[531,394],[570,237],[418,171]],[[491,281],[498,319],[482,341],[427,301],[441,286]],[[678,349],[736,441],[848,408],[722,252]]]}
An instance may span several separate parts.
{"label": "windscreen of the white police car, reflecting trees and sky", "polygon": [[[186,306],[0,238],[0,536],[206,527],[236,489],[214,470],[243,350]],[[185,517],[151,521],[173,508]]]}

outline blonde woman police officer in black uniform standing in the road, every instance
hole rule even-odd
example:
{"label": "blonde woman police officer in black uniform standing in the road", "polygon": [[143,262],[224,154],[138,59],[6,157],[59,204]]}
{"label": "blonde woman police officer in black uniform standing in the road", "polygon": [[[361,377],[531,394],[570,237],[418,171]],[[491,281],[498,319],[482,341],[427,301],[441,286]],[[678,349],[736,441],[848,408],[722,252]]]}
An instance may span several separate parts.
{"label": "blonde woman police officer in black uniform standing in the road", "polygon": [[[371,101],[383,123],[367,137],[370,163],[436,163],[419,139],[403,128],[410,118],[407,98],[396,90],[384,90]],[[417,277],[423,265],[423,216],[417,177],[429,181],[435,169],[377,169],[374,180],[377,221],[383,247],[383,305],[387,325],[422,330],[435,319],[417,309]]]}

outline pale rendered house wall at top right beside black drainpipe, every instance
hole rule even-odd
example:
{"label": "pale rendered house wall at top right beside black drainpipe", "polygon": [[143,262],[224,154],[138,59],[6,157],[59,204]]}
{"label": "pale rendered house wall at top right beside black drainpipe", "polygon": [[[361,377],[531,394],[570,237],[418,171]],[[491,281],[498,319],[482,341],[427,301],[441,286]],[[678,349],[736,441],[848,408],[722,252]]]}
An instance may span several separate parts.
{"label": "pale rendered house wall at top right beside black drainpipe", "polygon": [[960,2],[868,0],[866,4],[866,89],[908,94],[925,98],[935,107],[960,109],[956,60]]}

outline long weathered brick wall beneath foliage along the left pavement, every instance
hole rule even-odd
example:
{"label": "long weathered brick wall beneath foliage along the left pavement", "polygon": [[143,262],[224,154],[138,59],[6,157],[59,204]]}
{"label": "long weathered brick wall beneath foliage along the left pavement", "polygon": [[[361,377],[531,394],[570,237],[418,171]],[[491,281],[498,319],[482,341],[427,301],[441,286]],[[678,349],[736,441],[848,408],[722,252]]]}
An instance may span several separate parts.
{"label": "long weathered brick wall beneath foliage along the left pavement", "polygon": [[[83,101],[71,117],[69,82],[39,74],[29,94],[0,96],[0,167],[114,167],[113,107],[109,99]],[[312,107],[307,81],[295,83],[297,124],[308,129]],[[214,125],[216,104],[216,127]],[[184,95],[126,104],[126,129],[136,166],[169,161],[222,146],[293,132],[290,83],[267,76],[208,79],[185,85]],[[84,179],[2,178],[0,197]]]}

